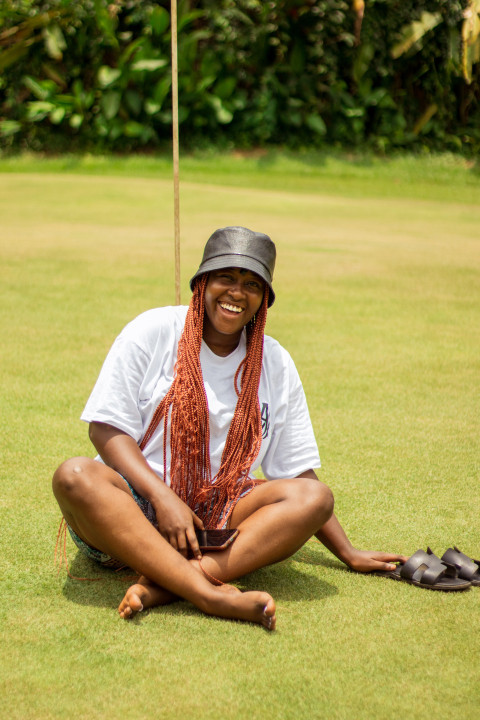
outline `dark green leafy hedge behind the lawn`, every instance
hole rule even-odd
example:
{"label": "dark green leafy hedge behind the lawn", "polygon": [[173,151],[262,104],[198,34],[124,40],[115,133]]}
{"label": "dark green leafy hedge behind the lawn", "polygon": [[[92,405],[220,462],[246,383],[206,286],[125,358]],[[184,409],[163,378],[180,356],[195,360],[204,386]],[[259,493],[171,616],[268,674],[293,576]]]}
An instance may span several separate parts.
{"label": "dark green leafy hedge behind the lawn", "polygon": [[[184,148],[480,150],[480,0],[180,0]],[[361,32],[360,32],[361,26]],[[170,0],[0,0],[3,151],[171,138]]]}

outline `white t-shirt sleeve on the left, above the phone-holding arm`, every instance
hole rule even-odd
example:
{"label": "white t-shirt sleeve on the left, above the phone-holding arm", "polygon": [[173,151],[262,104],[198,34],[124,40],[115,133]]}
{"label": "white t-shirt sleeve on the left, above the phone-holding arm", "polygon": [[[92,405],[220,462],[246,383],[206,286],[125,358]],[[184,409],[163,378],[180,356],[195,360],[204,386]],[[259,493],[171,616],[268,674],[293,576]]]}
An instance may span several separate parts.
{"label": "white t-shirt sleeve on the left, above the phone-holding arm", "polygon": [[113,343],[81,419],[113,425],[138,442],[143,435],[139,394],[149,358],[133,339],[131,325]]}

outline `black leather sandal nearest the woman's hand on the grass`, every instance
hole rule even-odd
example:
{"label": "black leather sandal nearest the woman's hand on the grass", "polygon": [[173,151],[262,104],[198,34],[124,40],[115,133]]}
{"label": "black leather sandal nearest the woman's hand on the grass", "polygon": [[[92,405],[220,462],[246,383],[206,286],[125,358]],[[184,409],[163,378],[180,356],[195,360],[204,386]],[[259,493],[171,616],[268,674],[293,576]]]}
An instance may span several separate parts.
{"label": "black leather sandal nearest the woman's hand on the grass", "polygon": [[389,577],[423,587],[427,590],[468,590],[471,582],[458,577],[454,564],[440,560],[430,548],[427,552],[417,550],[406,563],[400,563],[395,570],[377,570],[372,575]]}

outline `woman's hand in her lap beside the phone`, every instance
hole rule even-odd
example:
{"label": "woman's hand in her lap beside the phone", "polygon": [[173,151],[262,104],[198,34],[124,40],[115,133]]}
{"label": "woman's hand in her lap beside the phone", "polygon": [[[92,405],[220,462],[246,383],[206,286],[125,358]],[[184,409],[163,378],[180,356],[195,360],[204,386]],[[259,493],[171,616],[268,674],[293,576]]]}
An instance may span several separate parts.
{"label": "woman's hand in her lap beside the phone", "polygon": [[200,518],[173,490],[163,493],[162,497],[157,498],[152,504],[157,517],[158,531],[165,540],[185,558],[188,557],[190,547],[194,557],[201,560],[202,553],[195,534],[195,527],[204,529]]}

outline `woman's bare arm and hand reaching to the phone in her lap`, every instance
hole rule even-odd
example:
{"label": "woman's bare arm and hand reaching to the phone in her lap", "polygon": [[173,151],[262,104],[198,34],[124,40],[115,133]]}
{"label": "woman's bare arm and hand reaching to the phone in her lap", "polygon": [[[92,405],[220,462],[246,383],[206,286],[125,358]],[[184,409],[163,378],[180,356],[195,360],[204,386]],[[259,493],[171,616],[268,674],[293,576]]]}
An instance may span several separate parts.
{"label": "woman's bare arm and hand reaching to the phone in her lap", "polygon": [[152,504],[159,532],[170,545],[185,557],[190,545],[195,557],[201,558],[194,526],[203,529],[202,521],[159,480],[135,440],[112,425],[99,422],[90,423],[89,436],[104,463],[123,475]]}

